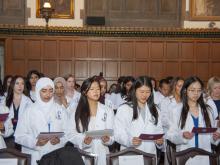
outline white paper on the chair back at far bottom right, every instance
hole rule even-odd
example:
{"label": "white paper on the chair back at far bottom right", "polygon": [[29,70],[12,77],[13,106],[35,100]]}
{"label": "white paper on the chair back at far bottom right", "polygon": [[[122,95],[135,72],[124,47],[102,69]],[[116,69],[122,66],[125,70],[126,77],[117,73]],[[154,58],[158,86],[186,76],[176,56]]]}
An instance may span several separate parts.
{"label": "white paper on the chair back at far bottom right", "polygon": [[209,157],[208,156],[195,156],[193,158],[189,158],[186,162],[186,165],[209,165]]}

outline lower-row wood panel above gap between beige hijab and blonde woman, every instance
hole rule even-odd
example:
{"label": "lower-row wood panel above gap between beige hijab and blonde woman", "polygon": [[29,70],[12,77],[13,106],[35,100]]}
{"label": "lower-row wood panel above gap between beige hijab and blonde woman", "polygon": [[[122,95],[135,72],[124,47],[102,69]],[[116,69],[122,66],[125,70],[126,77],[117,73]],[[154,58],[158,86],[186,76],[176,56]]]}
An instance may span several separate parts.
{"label": "lower-row wood panel above gap between beige hijab and blonde woman", "polygon": [[72,67],[72,60],[59,60],[59,74],[58,76],[66,76],[74,73]]}

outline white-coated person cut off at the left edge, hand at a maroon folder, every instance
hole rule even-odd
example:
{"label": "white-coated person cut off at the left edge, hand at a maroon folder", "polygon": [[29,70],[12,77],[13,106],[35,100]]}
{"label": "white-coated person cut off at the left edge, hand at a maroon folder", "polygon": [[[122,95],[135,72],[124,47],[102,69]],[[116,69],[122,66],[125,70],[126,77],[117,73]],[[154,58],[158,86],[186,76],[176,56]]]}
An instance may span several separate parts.
{"label": "white-coated person cut off at the left edge, hand at a maroon folder", "polygon": [[[0,104],[0,115],[8,114],[9,109],[5,105]],[[0,120],[0,149],[7,148],[4,138],[14,133],[13,125],[9,117],[6,120]]]}

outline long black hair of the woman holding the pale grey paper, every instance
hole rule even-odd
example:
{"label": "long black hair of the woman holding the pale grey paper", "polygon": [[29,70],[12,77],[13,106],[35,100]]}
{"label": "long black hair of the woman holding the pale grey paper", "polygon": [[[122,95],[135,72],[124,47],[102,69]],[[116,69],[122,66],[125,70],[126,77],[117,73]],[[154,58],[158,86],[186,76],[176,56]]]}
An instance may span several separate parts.
{"label": "long black hair of the woman holding the pale grey paper", "polygon": [[[90,107],[86,94],[89,91],[92,83],[94,82],[97,82],[99,84],[99,81],[96,76],[86,79],[85,81],[83,81],[83,84],[81,86],[81,97],[79,99],[79,103],[75,113],[77,132],[88,131],[88,125],[90,120]],[[99,88],[100,88],[100,84],[99,84]],[[82,130],[80,129],[80,122],[81,122]]]}

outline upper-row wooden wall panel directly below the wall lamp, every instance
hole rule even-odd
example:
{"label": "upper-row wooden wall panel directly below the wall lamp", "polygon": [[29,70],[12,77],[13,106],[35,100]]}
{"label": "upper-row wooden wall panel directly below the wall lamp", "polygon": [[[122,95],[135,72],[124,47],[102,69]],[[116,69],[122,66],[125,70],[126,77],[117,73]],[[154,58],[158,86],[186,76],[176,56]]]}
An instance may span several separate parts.
{"label": "upper-row wooden wall panel directly below the wall lamp", "polygon": [[44,48],[43,48],[43,58],[44,59],[57,59],[58,47],[57,40],[44,40]]}

